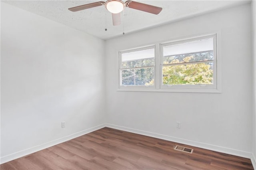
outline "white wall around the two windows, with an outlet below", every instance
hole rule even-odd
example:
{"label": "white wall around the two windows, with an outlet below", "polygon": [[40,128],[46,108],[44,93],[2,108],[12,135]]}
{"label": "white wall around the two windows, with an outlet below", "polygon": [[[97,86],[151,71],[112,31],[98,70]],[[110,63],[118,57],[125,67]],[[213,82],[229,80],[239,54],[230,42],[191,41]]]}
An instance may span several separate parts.
{"label": "white wall around the two windows, with an outlet below", "polygon": [[[106,41],[108,126],[249,157],[250,15],[247,4]],[[216,31],[222,34],[222,93],[116,91],[119,50]],[[176,121],[181,122],[182,128],[176,128]]]}

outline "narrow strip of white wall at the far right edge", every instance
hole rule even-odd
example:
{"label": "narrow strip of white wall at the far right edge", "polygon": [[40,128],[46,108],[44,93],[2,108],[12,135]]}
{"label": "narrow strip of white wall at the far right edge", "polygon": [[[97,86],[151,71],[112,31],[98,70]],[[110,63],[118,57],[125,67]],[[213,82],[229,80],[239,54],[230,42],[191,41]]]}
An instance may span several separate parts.
{"label": "narrow strip of white wall at the far right edge", "polygon": [[252,1],[252,58],[253,58],[253,88],[252,88],[252,153],[256,162],[256,0]]}

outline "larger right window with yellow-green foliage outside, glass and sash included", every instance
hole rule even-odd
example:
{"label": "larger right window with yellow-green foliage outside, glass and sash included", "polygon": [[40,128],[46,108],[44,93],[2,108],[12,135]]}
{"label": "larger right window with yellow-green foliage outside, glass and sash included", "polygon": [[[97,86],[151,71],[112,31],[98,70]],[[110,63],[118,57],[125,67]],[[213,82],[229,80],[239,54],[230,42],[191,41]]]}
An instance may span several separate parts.
{"label": "larger right window with yellow-green foliage outside, glass and sash included", "polygon": [[215,35],[161,44],[161,88],[216,89]]}

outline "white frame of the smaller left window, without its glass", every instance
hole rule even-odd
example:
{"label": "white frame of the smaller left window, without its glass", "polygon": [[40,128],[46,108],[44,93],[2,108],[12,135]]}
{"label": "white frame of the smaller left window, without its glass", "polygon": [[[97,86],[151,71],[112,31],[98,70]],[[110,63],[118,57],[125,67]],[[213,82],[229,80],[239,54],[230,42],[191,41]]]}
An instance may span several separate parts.
{"label": "white frame of the smaller left window, without its glass", "polygon": [[[154,69],[154,80],[156,78],[156,45],[148,45],[148,46],[144,46],[144,47],[138,47],[138,48],[134,48],[134,49],[128,49],[128,50],[123,50],[123,51],[119,51],[119,55],[118,55],[118,84],[119,84],[119,89],[156,89],[156,83],[154,81],[154,85],[122,85],[122,79],[121,79],[121,75],[122,75],[122,70],[125,69],[129,69],[129,68],[122,68],[122,54],[123,53],[130,53],[130,52],[135,52],[135,51],[143,51],[146,49],[154,49],[154,65],[153,65],[153,69]],[[152,66],[148,66],[148,68],[150,68]],[[145,67],[135,67],[132,69],[140,69],[140,68],[147,68],[147,66]]]}

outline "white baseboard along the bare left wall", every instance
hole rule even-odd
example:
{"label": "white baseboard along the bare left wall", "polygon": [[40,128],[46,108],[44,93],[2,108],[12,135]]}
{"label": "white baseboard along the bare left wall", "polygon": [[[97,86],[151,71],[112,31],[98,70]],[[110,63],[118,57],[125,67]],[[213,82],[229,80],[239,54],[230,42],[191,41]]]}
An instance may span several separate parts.
{"label": "white baseboard along the bare left wall", "polygon": [[56,144],[60,144],[62,142],[66,142],[70,139],[73,139],[73,138],[77,138],[79,136],[82,136],[84,134],[87,134],[87,133],[90,133],[90,132],[93,132],[95,130],[98,130],[100,128],[104,128],[106,127],[105,124],[102,124],[102,125],[98,125],[96,127],[92,127],[92,128],[88,128],[88,129],[85,129],[85,130],[82,130],[80,132],[76,132],[74,134],[70,134],[68,136],[65,136],[63,138],[58,138],[56,140],[52,140],[50,142],[47,142],[47,143],[44,143],[44,144],[40,144],[38,146],[34,146],[32,148],[28,148],[28,149],[25,149],[25,150],[21,150],[19,152],[16,152],[16,153],[13,153],[13,154],[10,154],[10,155],[7,155],[7,156],[3,156],[0,158],[0,164],[3,164],[5,162],[9,162],[11,160],[14,160],[14,159],[17,159],[17,158],[20,158],[22,156],[26,156],[28,154],[32,154],[34,152],[38,152],[40,150],[43,150],[43,149],[46,149],[46,148],[49,148],[51,146],[54,146]]}

